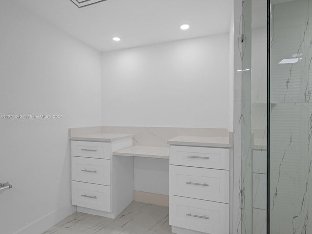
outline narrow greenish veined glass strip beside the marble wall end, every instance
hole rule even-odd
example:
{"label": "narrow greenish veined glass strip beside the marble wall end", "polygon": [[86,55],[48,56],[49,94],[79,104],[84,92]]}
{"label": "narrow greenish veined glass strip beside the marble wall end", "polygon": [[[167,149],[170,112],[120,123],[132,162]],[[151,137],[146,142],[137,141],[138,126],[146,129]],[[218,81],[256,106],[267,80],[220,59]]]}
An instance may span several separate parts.
{"label": "narrow greenish veined glass strip beside the marble wall end", "polygon": [[251,9],[252,0],[243,1],[241,28],[242,67],[242,234],[252,233],[252,132],[251,132]]}

